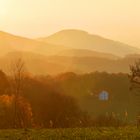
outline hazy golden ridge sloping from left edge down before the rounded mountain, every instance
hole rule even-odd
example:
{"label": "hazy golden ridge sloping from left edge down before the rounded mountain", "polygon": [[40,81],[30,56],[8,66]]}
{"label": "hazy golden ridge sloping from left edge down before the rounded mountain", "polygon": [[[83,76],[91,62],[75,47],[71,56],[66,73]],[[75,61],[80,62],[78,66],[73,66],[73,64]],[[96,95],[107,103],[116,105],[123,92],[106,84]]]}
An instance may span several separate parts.
{"label": "hazy golden ridge sloping from left edge down before the rounded mountain", "polygon": [[43,55],[59,56],[94,56],[116,59],[117,56],[108,53],[101,53],[87,49],[73,49],[63,45],[53,45],[47,42],[40,42],[25,37],[15,36],[6,32],[0,32],[0,55],[14,51],[27,51]]}

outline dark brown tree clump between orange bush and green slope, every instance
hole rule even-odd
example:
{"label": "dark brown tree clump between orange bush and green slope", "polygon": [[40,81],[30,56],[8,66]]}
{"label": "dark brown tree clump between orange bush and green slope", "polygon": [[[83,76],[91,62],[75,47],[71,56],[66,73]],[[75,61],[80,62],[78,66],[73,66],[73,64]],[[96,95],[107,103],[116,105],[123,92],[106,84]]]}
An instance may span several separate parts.
{"label": "dark brown tree clump between orange bush and green slope", "polygon": [[26,78],[24,97],[32,106],[34,126],[47,128],[78,127],[87,125],[84,113],[75,98],[64,95],[38,79]]}

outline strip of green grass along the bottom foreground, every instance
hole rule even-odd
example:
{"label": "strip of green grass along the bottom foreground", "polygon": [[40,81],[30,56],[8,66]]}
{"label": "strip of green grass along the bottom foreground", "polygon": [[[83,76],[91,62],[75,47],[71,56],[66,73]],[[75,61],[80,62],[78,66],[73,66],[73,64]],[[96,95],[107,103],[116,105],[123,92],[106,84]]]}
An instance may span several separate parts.
{"label": "strip of green grass along the bottom foreground", "polygon": [[140,140],[140,130],[135,127],[1,130],[0,140]]}

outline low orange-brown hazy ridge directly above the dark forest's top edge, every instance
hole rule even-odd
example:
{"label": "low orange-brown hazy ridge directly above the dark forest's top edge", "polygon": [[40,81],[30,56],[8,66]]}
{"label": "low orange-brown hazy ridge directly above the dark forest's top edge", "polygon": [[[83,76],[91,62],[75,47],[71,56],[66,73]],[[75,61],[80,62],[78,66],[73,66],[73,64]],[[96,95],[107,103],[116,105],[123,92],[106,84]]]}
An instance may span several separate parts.
{"label": "low orange-brown hazy ridge directly above the dark forest's top edge", "polygon": [[25,61],[27,70],[30,73],[39,75],[54,75],[68,71],[75,72],[77,74],[95,71],[129,73],[129,66],[140,58],[140,55],[128,55],[124,58],[110,59],[95,56],[45,56],[31,52],[11,52],[3,57],[0,57],[0,69],[7,71],[10,63],[16,58],[22,58]]}

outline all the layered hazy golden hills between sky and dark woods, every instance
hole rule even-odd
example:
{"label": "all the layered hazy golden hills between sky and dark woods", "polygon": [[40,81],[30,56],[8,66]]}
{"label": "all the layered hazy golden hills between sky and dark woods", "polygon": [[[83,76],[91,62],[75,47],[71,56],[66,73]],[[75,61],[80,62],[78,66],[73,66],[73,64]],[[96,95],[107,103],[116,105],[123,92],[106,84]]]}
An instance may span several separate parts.
{"label": "all the layered hazy golden hills between sky and dark woods", "polygon": [[138,48],[78,30],[65,30],[38,40],[0,32],[0,68],[4,71],[12,59],[21,57],[33,74],[128,73],[129,65],[140,58],[133,53],[139,52]]}

